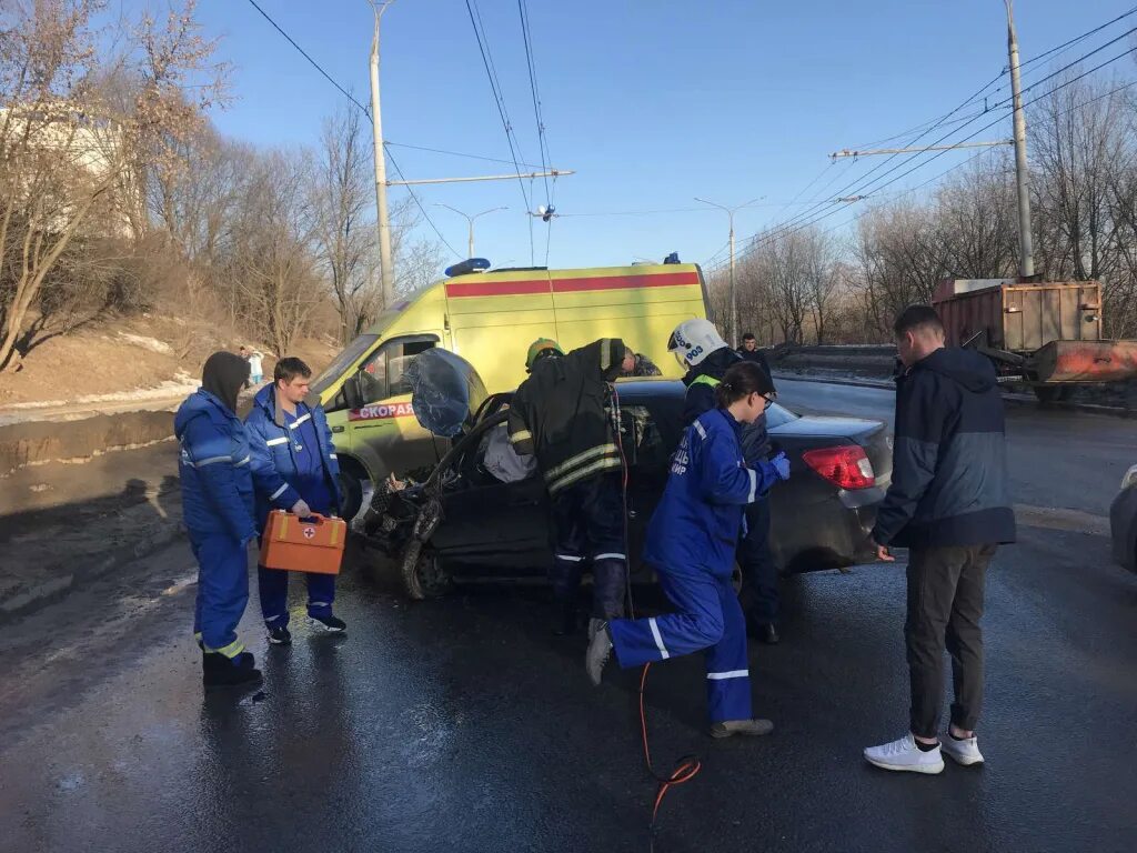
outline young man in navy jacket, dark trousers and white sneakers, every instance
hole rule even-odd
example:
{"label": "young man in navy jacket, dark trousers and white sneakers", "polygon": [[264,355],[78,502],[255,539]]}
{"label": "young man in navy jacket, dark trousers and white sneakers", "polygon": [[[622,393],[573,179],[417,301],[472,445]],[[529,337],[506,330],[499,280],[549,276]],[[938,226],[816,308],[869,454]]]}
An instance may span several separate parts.
{"label": "young man in navy jacket, dark trousers and white sneakers", "polygon": [[[893,485],[872,531],[880,560],[907,547],[904,639],[911,678],[910,731],[865,750],[887,770],[938,773],[943,753],[960,764],[984,756],[976,740],[984,693],[987,566],[1015,538],[1007,489],[1003,399],[984,356],[944,346],[944,326],[928,306],[895,324],[905,372],[896,390]],[[939,739],[944,647],[952,655],[955,702]]]}

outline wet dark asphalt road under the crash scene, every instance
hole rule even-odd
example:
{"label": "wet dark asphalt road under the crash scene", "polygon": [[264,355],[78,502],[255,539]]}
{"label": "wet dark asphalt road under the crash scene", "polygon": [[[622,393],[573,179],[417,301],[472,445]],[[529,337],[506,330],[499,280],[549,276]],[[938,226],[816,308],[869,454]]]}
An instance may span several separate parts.
{"label": "wet dark asphalt road under the crash scene", "polygon": [[[782,398],[890,405],[788,382]],[[703,760],[665,800],[657,851],[1137,848],[1137,577],[1095,521],[1137,425],[1010,416],[1015,497],[1038,512],[989,574],[987,764],[868,767],[861,750],[906,722],[903,569],[794,578],[782,645],[752,647],[769,738],[711,740],[702,661],[653,668],[659,769]],[[297,627],[289,649],[265,648],[254,593],[243,636],[264,695],[202,701],[190,577],[171,547],[0,628],[0,851],[648,848],[636,676],[591,688],[583,640],[547,631],[543,590],[410,605],[381,570],[351,571],[349,636]]]}

